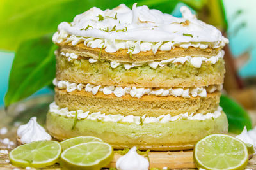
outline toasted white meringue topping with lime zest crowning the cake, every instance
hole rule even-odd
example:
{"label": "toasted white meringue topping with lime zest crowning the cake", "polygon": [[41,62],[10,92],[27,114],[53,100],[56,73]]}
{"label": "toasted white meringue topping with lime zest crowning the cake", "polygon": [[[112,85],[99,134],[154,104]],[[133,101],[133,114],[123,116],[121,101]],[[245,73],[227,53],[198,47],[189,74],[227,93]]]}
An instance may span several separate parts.
{"label": "toasted white meringue topping with lime zest crowning the cake", "polygon": [[168,51],[177,46],[188,48],[223,48],[228,39],[212,25],[198,20],[189,8],[180,8],[182,18],[150,10],[148,6],[120,4],[112,10],[93,7],[77,15],[73,22],[61,22],[52,37],[54,43],[63,41],[90,48],[104,48],[113,53],[128,49],[136,54],[152,50]]}

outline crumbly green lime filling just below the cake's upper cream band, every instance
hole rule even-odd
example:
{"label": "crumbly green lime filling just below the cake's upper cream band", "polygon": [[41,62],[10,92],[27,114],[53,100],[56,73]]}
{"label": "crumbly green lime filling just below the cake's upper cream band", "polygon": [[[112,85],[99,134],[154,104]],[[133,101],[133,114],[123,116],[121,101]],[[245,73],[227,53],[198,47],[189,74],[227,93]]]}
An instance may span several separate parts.
{"label": "crumbly green lime filling just below the cake's upper cream band", "polygon": [[[211,62],[202,62],[200,68],[195,68],[190,62],[180,63],[170,63],[164,67],[157,67],[153,69],[144,64],[143,66],[132,67],[131,69],[125,69],[121,64],[120,66],[113,69],[110,66],[110,62],[95,62],[91,64],[87,59],[76,59],[68,61],[67,57],[58,56],[58,70],[65,71],[82,71],[86,75],[104,75],[108,78],[115,80],[116,77],[125,76],[128,79],[138,78],[140,76],[147,76],[149,79],[156,79],[161,77],[161,79],[173,79],[173,78],[189,78],[191,76],[208,76],[213,75],[223,75],[225,72],[224,60],[219,59],[216,64],[211,64]],[[130,80],[127,80],[130,81]]]}

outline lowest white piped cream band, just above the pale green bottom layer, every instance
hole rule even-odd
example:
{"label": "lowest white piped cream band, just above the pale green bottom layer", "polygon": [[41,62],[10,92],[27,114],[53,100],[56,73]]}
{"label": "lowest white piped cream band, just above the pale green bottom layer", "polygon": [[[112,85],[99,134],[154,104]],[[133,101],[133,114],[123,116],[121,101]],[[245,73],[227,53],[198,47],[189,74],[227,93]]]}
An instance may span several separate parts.
{"label": "lowest white piped cream band, just above the pale green bottom layer", "polygon": [[55,102],[50,104],[50,112],[56,113],[58,115],[61,115],[63,117],[76,117],[77,112],[77,119],[90,119],[90,120],[98,120],[98,121],[111,121],[111,122],[122,122],[122,123],[134,123],[140,125],[143,124],[149,124],[149,123],[167,123],[167,122],[174,122],[175,120],[180,119],[188,119],[188,120],[206,120],[209,118],[218,118],[221,115],[222,108],[219,106],[214,113],[207,113],[203,115],[202,113],[191,113],[188,115],[188,113],[182,113],[176,116],[171,116],[170,114],[167,115],[160,115],[159,117],[148,117],[147,115],[140,116],[123,116],[123,115],[105,115],[105,113],[95,112],[90,113],[90,111],[84,112],[83,110],[77,110],[77,111],[69,111],[68,108],[60,108]]}

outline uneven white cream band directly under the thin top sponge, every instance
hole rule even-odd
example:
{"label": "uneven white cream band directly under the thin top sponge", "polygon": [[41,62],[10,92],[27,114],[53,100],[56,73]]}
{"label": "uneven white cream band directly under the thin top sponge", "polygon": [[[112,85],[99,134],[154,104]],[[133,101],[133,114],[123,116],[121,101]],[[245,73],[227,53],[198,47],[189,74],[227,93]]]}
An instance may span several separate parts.
{"label": "uneven white cream band directly under the thin top sponge", "polygon": [[[156,69],[157,67],[164,67],[170,63],[180,63],[184,64],[185,62],[189,62],[193,67],[200,68],[202,65],[202,62],[211,62],[211,64],[215,64],[218,62],[219,59],[224,57],[224,50],[220,50],[217,55],[212,57],[191,57],[191,56],[185,56],[185,57],[175,57],[168,60],[160,60],[160,61],[154,61],[154,62],[140,62],[140,63],[126,63],[126,62],[115,62],[111,61],[110,66],[115,69],[116,67],[122,65],[125,69],[131,69],[132,67],[140,67],[144,64],[147,64],[148,66],[152,67],[153,69]],[[75,53],[65,53],[61,52],[60,55],[63,55],[65,57],[68,57],[68,61],[74,60],[78,58],[78,55]],[[88,61],[90,63],[99,62],[97,59],[89,58]],[[105,61],[106,62],[106,61]]]}

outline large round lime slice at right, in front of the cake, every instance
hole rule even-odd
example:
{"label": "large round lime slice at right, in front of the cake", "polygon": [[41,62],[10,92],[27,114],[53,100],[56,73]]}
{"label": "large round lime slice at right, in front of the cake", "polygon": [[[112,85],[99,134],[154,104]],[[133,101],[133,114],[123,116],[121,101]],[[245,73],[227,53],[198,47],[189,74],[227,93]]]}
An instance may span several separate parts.
{"label": "large round lime slice at right, in front of the cake", "polygon": [[211,134],[196,143],[196,167],[204,169],[244,169],[248,151],[243,141],[227,134]]}

